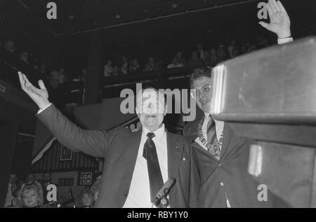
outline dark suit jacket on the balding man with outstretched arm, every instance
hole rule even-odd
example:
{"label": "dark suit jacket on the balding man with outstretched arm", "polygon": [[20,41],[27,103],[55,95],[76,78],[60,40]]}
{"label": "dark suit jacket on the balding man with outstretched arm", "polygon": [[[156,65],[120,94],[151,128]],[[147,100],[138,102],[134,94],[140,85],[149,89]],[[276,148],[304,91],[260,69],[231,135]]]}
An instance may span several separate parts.
{"label": "dark suit jacket on the balding man with outstretched arm", "polygon": [[[60,143],[72,151],[82,151],[88,155],[105,158],[100,194],[96,207],[123,207],[129,194],[131,179],[142,131],[131,132],[124,127],[110,131],[82,130],[71,123],[51,104],[37,114]],[[190,192],[191,160],[190,145],[185,137],[166,132],[168,176],[176,178],[176,184],[169,194],[171,207],[197,206],[197,192]]]}

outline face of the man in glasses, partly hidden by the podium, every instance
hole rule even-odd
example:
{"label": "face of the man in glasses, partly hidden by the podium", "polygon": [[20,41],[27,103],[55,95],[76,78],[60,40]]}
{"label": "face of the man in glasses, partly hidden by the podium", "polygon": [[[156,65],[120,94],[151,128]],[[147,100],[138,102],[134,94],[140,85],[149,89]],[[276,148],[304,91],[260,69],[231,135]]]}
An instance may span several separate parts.
{"label": "face of the man in glasses, partly hidden by the podium", "polygon": [[211,84],[212,79],[206,76],[197,78],[192,84],[192,88],[196,90],[195,101],[197,106],[204,113],[210,113],[211,110]]}

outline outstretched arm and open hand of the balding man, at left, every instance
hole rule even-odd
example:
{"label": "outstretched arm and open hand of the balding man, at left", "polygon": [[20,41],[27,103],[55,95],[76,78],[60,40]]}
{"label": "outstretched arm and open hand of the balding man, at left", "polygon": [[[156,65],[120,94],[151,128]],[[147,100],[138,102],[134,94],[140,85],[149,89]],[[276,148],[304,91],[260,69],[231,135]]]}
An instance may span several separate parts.
{"label": "outstretched arm and open hand of the balding man, at left", "polygon": [[96,157],[104,157],[107,146],[115,137],[117,130],[110,132],[83,130],[68,120],[48,100],[48,92],[43,81],[39,81],[39,88],[34,87],[21,72],[18,72],[21,88],[39,106],[37,118],[41,120],[51,133],[73,151],[83,151]]}

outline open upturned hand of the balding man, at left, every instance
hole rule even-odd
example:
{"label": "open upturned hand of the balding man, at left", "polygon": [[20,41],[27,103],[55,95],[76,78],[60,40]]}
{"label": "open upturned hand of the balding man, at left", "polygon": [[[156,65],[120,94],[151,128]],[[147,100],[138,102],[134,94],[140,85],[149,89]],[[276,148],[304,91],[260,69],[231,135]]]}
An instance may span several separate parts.
{"label": "open upturned hand of the balding man, at left", "polygon": [[44,82],[39,80],[39,88],[36,88],[32,83],[29,82],[25,74],[18,71],[21,88],[24,92],[33,99],[33,101],[39,106],[39,109],[44,109],[48,106],[48,92],[45,88]]}

